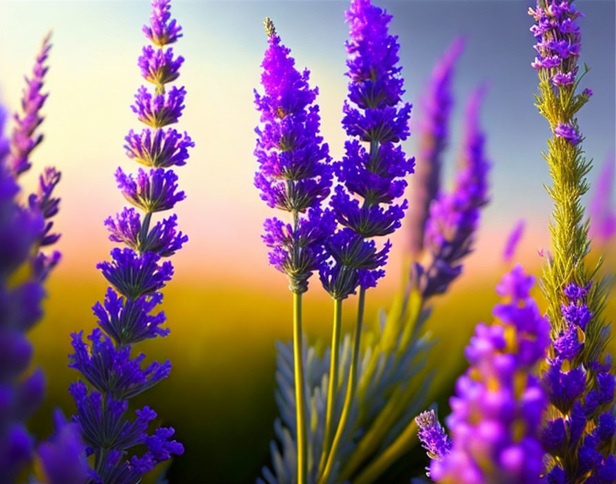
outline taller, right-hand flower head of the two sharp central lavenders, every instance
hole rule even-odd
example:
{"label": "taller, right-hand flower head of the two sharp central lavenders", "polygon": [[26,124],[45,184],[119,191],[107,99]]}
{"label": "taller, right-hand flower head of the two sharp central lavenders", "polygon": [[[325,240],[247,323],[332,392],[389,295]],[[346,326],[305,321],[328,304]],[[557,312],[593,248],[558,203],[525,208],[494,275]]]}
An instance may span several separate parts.
{"label": "taller, right-hand flower head of the two sharp central lavenders", "polygon": [[375,287],[384,276],[391,244],[377,250],[366,239],[400,227],[408,203],[395,201],[415,164],[399,146],[410,134],[411,106],[401,100],[404,79],[397,66],[397,36],[388,33],[391,15],[369,0],[353,0],[346,16],[351,81],[342,126],[353,139],[344,144],[342,161],[333,164],[341,184],[331,208],[343,228],[327,241],[331,258],[320,270],[323,286],[336,299],[353,294],[358,285]]}

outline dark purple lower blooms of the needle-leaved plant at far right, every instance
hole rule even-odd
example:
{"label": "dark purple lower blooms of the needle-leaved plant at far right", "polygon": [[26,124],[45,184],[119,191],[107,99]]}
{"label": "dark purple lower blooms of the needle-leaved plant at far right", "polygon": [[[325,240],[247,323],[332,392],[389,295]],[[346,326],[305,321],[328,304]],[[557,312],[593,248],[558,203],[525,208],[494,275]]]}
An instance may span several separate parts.
{"label": "dark purple lower blooms of the needle-leaved plant at far right", "polygon": [[564,288],[566,327],[553,341],[553,358],[544,374],[549,402],[558,415],[547,422],[542,434],[544,448],[551,454],[549,484],[616,481],[616,459],[611,452],[616,437],[616,378],[610,374],[611,357],[607,355],[604,363],[580,363],[593,318],[586,304],[589,289],[591,284],[580,287],[575,283]]}

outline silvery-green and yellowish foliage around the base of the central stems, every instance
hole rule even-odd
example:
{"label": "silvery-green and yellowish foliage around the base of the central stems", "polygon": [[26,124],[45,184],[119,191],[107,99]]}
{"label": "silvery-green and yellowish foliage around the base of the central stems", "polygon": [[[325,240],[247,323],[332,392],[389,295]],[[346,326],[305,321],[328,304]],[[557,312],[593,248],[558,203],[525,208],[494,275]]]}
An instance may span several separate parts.
{"label": "silvery-green and yellowish foliage around the base of the central stems", "polygon": [[[432,342],[421,336],[428,311],[417,309],[419,300],[412,294],[401,295],[389,314],[380,314],[375,331],[362,334],[362,362],[357,394],[351,407],[340,452],[329,483],[353,481],[388,445],[426,404],[429,374],[426,356]],[[277,343],[276,404],[280,418],[274,423],[276,441],[270,443],[272,466],[263,468],[258,484],[293,484],[296,479],[296,419],[294,397],[293,351],[291,343]],[[316,482],[318,459],[325,427],[329,347],[319,355],[316,347],[305,345],[306,395],[308,395],[308,483]],[[351,362],[352,338],[347,334],[340,345],[340,382],[336,395],[335,423],[340,418],[347,389]],[[387,410],[386,412],[384,410]],[[391,418],[393,416],[393,418]]]}

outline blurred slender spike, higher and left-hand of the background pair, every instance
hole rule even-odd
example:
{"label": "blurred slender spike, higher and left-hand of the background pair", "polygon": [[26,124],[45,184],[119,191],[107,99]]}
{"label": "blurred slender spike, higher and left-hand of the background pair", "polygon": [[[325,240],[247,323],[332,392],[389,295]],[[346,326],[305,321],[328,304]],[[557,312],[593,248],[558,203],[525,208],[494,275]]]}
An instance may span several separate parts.
{"label": "blurred slender spike, higher and left-hand of the background pair", "polygon": [[452,78],[454,65],[464,49],[464,39],[454,40],[432,69],[432,76],[419,101],[423,117],[419,124],[419,155],[415,162],[415,175],[410,181],[413,203],[406,219],[409,249],[417,258],[423,251],[423,231],[430,203],[439,192],[441,157],[448,140],[448,124],[453,105]]}

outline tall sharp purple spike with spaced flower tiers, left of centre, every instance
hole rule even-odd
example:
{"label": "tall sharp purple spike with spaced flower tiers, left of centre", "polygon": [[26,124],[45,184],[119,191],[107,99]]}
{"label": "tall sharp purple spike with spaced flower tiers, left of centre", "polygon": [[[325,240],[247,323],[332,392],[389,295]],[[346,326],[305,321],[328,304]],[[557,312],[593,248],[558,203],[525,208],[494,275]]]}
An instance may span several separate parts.
{"label": "tall sharp purple spike with spaced flower tiers, left of centre", "polygon": [[78,423],[90,454],[94,454],[91,481],[102,484],[136,484],[157,463],[181,454],[184,447],[173,440],[173,428],[157,428],[148,434],[156,413],[145,406],[134,419],[126,414],[129,399],[151,388],[169,375],[171,364],[152,362],[144,367],[144,354],[134,355],[133,344],[167,336],[162,328],[165,316],[153,311],[162,303],[159,292],[173,276],[173,266],[164,261],[186,243],[188,237],[177,232],[177,217],[172,214],[151,225],[153,214],[170,210],[184,199],[177,191],[177,175],[170,166],[182,166],[188,159],[190,137],[166,128],[177,122],[184,109],[184,87],[166,84],[179,77],[184,62],[174,57],[166,45],[175,42],[181,27],[170,19],[169,0],[153,0],[150,25],[144,33],[154,45],[143,48],[137,61],[143,78],[154,85],[154,93],[140,87],[132,107],[147,126],[140,134],[126,136],[126,155],[150,166],[136,177],[118,168],[115,177],[122,195],[137,209],[124,208],[104,225],[109,239],[126,245],[111,251],[112,261],[97,265],[113,287],[107,289],[104,303],[92,308],[100,329],[83,340],[83,331],[74,333],[74,353],[70,364],[83,374],[87,384],[76,382],[71,393],[77,404],[73,419]]}

